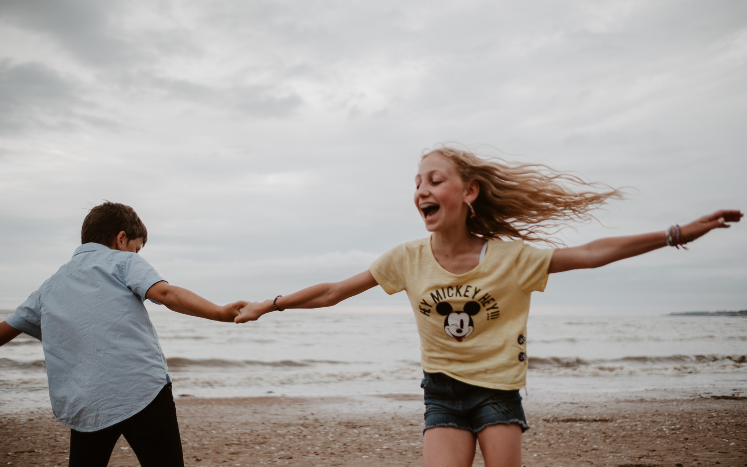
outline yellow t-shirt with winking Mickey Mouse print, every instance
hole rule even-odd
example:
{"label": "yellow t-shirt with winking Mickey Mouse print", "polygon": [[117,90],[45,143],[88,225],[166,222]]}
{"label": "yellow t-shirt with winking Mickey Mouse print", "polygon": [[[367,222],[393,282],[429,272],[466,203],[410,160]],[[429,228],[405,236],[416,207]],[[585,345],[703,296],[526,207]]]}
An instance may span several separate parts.
{"label": "yellow t-shirt with winking Mickey Mouse print", "polygon": [[490,240],[480,265],[453,274],[438,265],[427,237],[388,250],[369,270],[387,294],[407,291],[425,371],[475,386],[521,389],[530,294],[545,289],[553,251]]}

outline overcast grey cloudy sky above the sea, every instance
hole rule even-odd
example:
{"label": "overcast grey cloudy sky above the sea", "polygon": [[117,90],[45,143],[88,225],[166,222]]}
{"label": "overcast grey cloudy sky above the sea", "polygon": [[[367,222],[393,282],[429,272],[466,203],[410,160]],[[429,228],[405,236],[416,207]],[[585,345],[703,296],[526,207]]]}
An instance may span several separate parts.
{"label": "overcast grey cloudy sky above the sea", "polygon": [[[448,141],[631,187],[568,245],[744,210],[746,83],[741,0],[4,0],[0,308],[102,200],[217,302],[343,279],[427,235],[412,180]],[[551,276],[534,310],[745,309],[746,233]]]}

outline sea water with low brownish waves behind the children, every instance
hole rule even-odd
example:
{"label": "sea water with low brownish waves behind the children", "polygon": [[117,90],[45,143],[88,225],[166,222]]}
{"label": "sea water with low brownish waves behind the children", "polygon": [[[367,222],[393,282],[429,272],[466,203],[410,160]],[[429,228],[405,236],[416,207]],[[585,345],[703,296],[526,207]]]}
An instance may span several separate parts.
{"label": "sea water with low brownish waves behind the children", "polygon": [[[10,312],[0,312],[4,319]],[[412,312],[288,310],[247,324],[150,313],[175,395],[418,394]],[[747,395],[747,318],[530,315],[530,397]],[[41,344],[0,347],[0,412],[49,406]]]}

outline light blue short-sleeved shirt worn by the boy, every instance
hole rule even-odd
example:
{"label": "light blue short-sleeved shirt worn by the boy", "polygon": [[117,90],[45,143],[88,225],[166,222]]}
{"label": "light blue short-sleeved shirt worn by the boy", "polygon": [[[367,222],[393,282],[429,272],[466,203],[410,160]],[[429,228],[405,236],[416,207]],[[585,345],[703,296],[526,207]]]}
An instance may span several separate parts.
{"label": "light blue short-sleeved shirt worn by the boy", "polygon": [[63,424],[109,427],[140,412],[170,382],[143,306],[161,280],[137,253],[82,244],[7,318],[42,341],[52,410]]}

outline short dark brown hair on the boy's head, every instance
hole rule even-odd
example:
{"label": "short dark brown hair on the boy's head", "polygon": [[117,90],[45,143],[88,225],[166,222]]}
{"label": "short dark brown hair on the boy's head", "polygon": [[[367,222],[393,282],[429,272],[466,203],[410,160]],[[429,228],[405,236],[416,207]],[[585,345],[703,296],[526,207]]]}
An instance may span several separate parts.
{"label": "short dark brown hair on the boy's head", "polygon": [[111,247],[122,231],[128,240],[142,238],[143,245],[148,241],[148,229],[133,208],[107,201],[91,209],[83,220],[81,244],[93,242]]}

